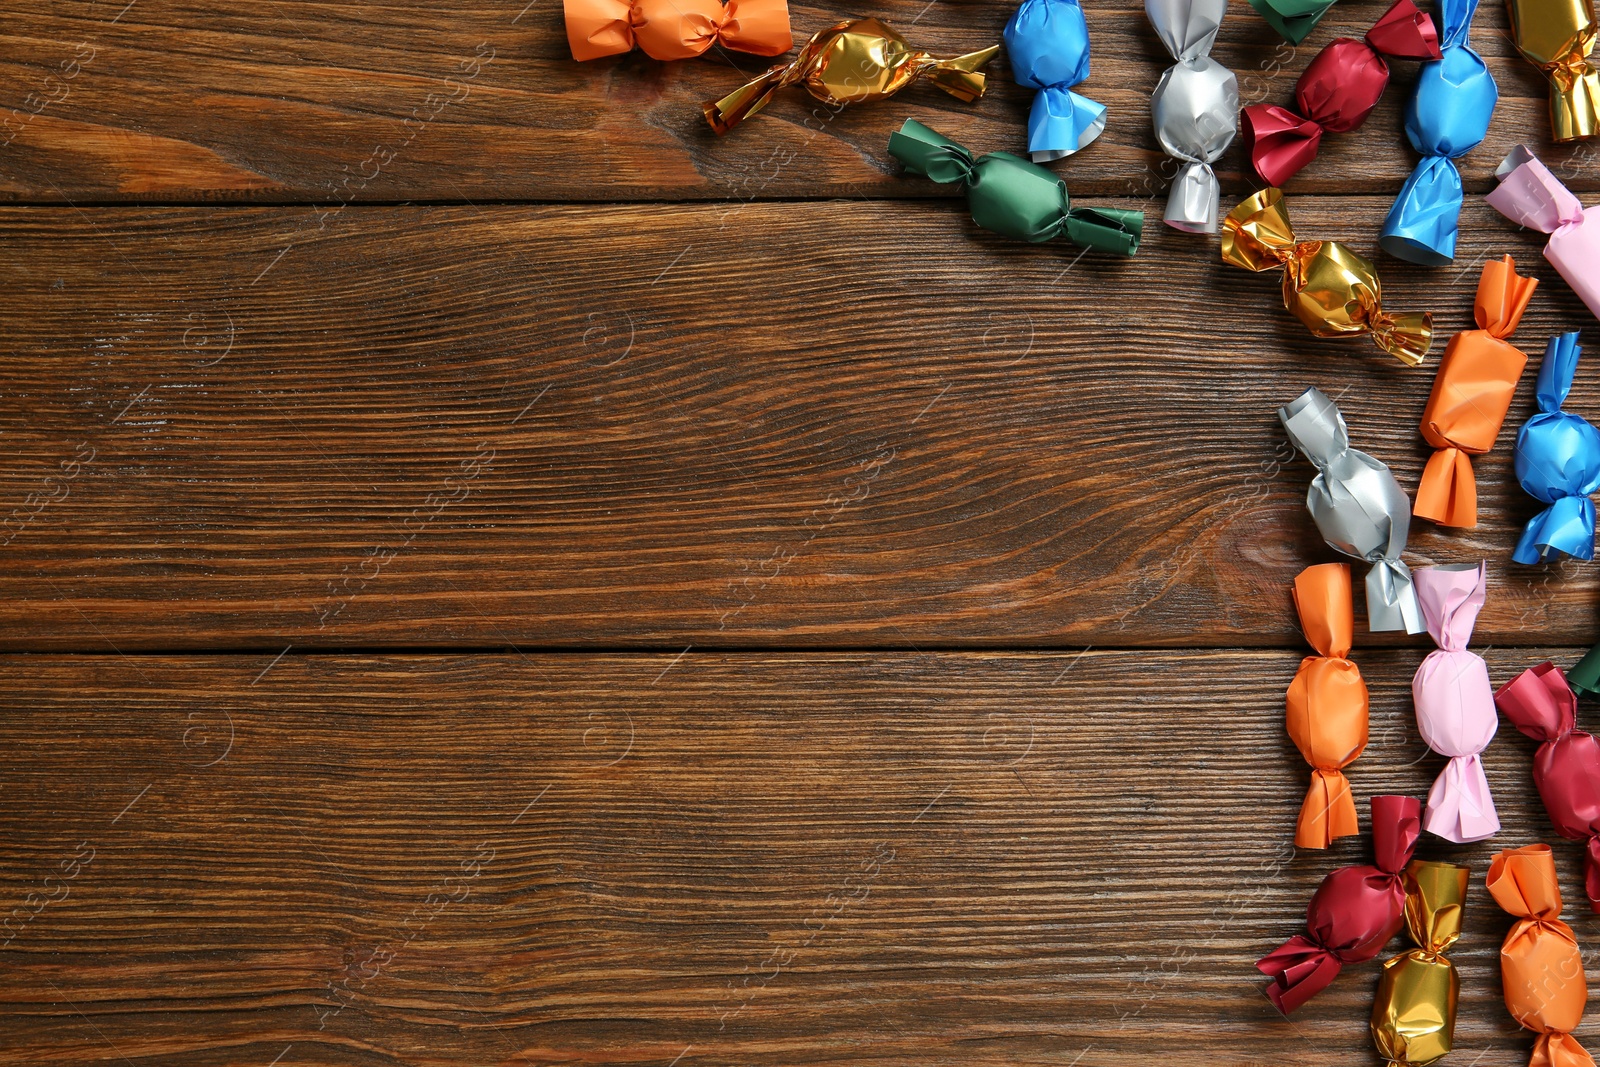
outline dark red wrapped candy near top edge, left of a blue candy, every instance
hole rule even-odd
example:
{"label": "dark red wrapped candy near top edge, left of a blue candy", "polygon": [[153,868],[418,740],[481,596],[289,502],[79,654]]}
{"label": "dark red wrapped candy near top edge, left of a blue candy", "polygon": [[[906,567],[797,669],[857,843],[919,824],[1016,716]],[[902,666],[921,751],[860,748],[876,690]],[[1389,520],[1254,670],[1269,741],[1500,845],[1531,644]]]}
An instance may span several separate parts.
{"label": "dark red wrapped candy near top edge, left of a blue candy", "polygon": [[1317,157],[1323,133],[1349,133],[1371,114],[1389,85],[1384,56],[1438,59],[1434,21],[1411,0],[1395,0],[1365,40],[1339,37],[1306,66],[1294,83],[1299,114],[1251,104],[1240,115],[1250,165],[1269,186],[1282,186]]}

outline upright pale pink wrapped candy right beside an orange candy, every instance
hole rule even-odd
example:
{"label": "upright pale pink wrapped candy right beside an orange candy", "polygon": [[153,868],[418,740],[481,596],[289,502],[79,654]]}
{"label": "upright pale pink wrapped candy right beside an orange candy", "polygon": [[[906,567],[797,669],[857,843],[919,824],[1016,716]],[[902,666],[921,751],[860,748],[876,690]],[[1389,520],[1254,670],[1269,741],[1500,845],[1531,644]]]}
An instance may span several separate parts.
{"label": "upright pale pink wrapped candy right beside an orange candy", "polygon": [[1478,755],[1494,739],[1499,715],[1483,657],[1467,651],[1483,608],[1482,563],[1424,566],[1414,574],[1427,632],[1438,645],[1411,677],[1416,728],[1427,747],[1450,757],[1427,793],[1422,829],[1466,845],[1499,832],[1490,781]]}

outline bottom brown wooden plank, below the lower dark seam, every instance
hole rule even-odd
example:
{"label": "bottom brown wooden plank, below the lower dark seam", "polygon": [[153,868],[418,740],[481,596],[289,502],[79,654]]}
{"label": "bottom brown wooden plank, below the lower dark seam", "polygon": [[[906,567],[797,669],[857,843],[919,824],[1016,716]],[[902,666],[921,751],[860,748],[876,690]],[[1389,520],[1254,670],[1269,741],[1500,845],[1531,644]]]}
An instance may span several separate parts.
{"label": "bottom brown wooden plank, below the lower dark seam", "polygon": [[[1358,659],[1355,792],[1421,793],[1442,760],[1411,720],[1418,656]],[[1253,969],[1366,848],[1290,845],[1296,664],[5,657],[0,1057],[1376,1062],[1373,966],[1290,1021]],[[1421,845],[1472,867],[1453,1059],[1478,1067],[1531,1043],[1483,891],[1498,848],[1554,838],[1531,750],[1504,726],[1485,755],[1498,838]],[[1579,849],[1555,851],[1592,952]]]}

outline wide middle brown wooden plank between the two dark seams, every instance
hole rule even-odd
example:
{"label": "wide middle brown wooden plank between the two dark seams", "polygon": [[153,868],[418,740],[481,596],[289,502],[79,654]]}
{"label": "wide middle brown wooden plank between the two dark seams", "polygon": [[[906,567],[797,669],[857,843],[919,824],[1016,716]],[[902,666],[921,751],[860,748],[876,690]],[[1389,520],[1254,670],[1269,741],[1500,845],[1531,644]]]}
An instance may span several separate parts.
{"label": "wide middle brown wooden plank between the two dark seams", "polygon": [[[1291,208],[1363,250],[1381,213]],[[0,213],[0,645],[1299,648],[1288,582],[1334,557],[1274,411],[1320,386],[1410,490],[1434,362],[1149,230],[1112,262],[944,202]],[[1469,205],[1459,267],[1382,261],[1389,306],[1448,336],[1515,251],[1538,358],[1594,325],[1538,248]],[[1408,558],[1490,560],[1480,643],[1589,643],[1595,569],[1509,561],[1531,392],[1483,525]]]}

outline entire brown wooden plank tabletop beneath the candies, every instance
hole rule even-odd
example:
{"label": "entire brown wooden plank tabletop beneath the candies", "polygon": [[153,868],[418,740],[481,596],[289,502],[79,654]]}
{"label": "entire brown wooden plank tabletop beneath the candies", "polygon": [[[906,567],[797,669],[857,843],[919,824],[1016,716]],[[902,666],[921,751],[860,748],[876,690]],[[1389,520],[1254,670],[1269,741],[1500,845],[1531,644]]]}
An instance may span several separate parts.
{"label": "entire brown wooden plank tabletop beneath the candies", "polygon": [[[1288,1021],[1251,966],[1366,857],[1290,843],[1288,584],[1334,557],[1274,411],[1320,386],[1410,490],[1435,360],[1312,339],[1160,226],[1131,3],[1088,5],[1110,123],[1058,165],[1147,210],[1114,262],[888,158],[907,115],[1018,150],[1003,61],[976,106],[790,93],[718,141],[699,101],[762,61],[576,64],[523,2],[0,14],[0,1062],[1376,1062],[1373,966]],[[958,53],[1010,10],[862,13]],[[1216,56],[1286,101],[1381,11],[1291,48],[1237,5]],[[1494,3],[1475,45],[1461,253],[1378,258],[1386,298],[1438,352],[1510,251],[1523,347],[1594,346],[1478,195],[1528,141],[1594,200],[1594,150],[1549,146]],[[1414,70],[1293,182],[1304,234],[1376,256]],[[1594,362],[1570,406],[1600,418]],[[1483,523],[1408,557],[1488,558],[1496,681],[1600,633],[1594,566],[1509,561],[1510,434]],[[1358,633],[1363,800],[1442,765],[1427,648]],[[1531,752],[1486,753],[1494,841],[1422,845],[1474,869],[1462,1067],[1531,1043],[1483,891],[1554,840]]]}

